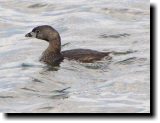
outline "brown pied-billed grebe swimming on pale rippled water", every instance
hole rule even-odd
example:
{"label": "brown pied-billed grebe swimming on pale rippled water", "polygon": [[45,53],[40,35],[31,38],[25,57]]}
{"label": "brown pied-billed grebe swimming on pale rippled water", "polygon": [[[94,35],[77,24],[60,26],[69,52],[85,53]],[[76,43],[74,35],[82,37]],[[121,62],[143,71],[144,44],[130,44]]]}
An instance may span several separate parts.
{"label": "brown pied-billed grebe swimming on pale rippled water", "polygon": [[49,43],[48,48],[43,52],[40,61],[47,64],[54,64],[62,61],[64,58],[76,60],[84,63],[91,63],[101,60],[104,57],[110,57],[109,52],[98,52],[90,49],[72,49],[61,52],[61,38],[59,33],[48,25],[35,27],[25,37],[35,37],[45,40]]}

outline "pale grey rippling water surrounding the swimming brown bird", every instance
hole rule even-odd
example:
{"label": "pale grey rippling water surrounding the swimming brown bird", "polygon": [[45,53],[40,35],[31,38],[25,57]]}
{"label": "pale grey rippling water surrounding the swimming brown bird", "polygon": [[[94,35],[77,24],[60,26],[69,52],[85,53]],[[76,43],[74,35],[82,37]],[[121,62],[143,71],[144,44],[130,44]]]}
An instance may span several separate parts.
{"label": "pale grey rippling water surrounding the swimming brown bird", "polygon": [[[44,24],[112,59],[40,63],[47,42],[24,35]],[[149,1],[0,0],[0,112],[150,112]]]}

